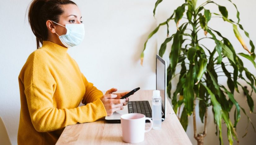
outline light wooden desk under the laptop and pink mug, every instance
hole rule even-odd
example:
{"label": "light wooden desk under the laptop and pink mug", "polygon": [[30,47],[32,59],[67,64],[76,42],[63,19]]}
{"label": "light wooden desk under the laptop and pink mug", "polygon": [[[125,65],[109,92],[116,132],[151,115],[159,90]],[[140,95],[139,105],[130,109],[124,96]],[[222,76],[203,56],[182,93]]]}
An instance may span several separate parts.
{"label": "light wooden desk under the laptop and pink mug", "polygon": [[[152,90],[139,90],[130,101],[151,100]],[[149,123],[146,123],[146,128]],[[122,141],[121,124],[109,124],[104,118],[96,122],[81,123],[66,126],[56,145],[106,145],[106,144],[128,144]],[[129,143],[130,144],[130,143]],[[181,126],[176,114],[167,102],[166,120],[162,122],[161,130],[151,130],[145,133],[145,139],[141,143],[145,145],[168,144],[168,145],[189,145],[192,144],[188,135]]]}

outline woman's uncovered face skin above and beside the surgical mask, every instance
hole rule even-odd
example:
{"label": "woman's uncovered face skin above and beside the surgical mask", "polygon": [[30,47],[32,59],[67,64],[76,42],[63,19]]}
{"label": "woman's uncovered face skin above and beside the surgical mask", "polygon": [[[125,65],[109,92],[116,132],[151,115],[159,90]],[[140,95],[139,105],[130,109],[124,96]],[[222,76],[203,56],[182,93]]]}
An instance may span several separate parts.
{"label": "woman's uncovered face skin above and beside the surgical mask", "polygon": [[[62,26],[66,26],[66,24],[81,24],[82,23],[82,16],[79,8],[77,5],[74,4],[67,4],[62,5],[62,9],[64,13],[60,15],[59,23]],[[58,35],[65,35],[67,33],[67,29],[60,25],[55,25],[55,30]]]}

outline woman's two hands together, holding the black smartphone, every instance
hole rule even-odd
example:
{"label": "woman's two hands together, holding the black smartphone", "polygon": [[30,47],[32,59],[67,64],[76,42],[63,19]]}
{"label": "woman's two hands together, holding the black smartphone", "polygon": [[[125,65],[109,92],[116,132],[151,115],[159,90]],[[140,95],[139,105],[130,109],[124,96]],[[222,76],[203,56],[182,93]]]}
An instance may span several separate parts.
{"label": "woman's two hands together, holding the black smartphone", "polygon": [[[112,94],[113,92],[116,92],[116,91],[117,91],[117,89],[112,88],[112,89],[108,90],[105,93],[105,95],[100,98],[100,100],[104,104],[104,107],[107,111],[108,116],[113,115],[113,113],[115,111],[123,110],[124,109],[123,105],[127,105],[127,102],[126,102],[127,98],[119,99],[122,97],[122,95],[124,93]],[[129,101],[129,99],[128,99],[128,101]]]}

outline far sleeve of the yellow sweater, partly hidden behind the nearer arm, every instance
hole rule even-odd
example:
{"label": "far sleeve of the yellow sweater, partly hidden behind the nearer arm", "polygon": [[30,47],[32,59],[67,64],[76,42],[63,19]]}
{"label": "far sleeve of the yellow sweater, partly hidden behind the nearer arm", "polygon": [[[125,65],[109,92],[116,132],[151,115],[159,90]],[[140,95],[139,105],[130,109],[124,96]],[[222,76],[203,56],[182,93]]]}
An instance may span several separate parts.
{"label": "far sleeve of the yellow sweater, partly hidden behind the nearer arm", "polygon": [[[82,73],[81,73],[82,74]],[[98,90],[92,83],[88,82],[86,77],[82,74],[83,82],[86,87],[85,95],[82,99],[83,104],[91,103],[103,96],[103,93]]]}

